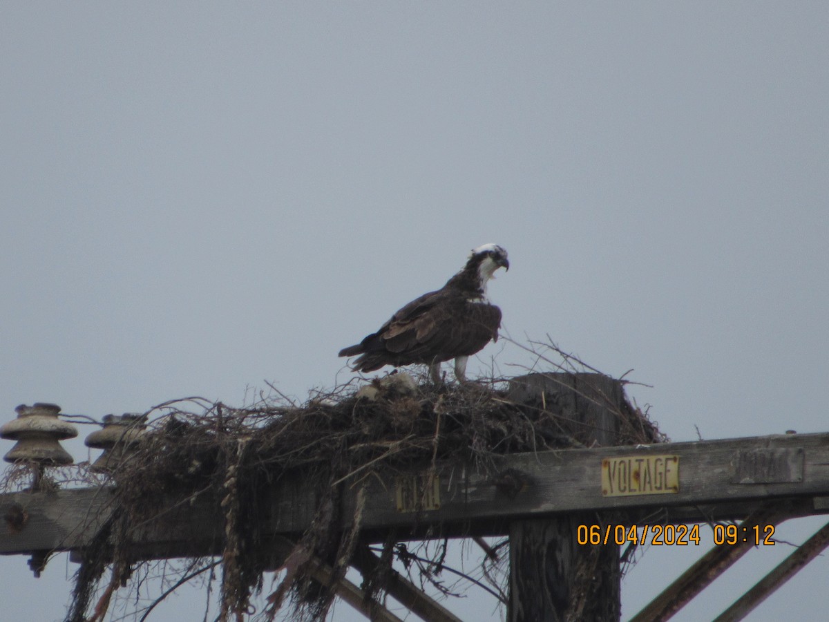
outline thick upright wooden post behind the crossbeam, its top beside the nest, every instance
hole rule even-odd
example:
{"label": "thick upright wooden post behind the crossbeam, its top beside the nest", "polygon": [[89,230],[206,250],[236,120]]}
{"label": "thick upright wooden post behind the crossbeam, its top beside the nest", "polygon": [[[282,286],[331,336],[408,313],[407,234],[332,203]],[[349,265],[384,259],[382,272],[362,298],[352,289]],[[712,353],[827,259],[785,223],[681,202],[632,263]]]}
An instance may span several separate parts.
{"label": "thick upright wooden post behind the crossbeam, its top beside the nest", "polygon": [[[511,382],[513,401],[557,415],[584,445],[615,445],[622,385],[600,374],[531,374]],[[564,484],[563,484],[564,485]],[[599,482],[596,482],[599,486]],[[579,524],[596,513],[517,520],[510,524],[510,622],[618,620],[621,615],[619,547],[583,547]]]}

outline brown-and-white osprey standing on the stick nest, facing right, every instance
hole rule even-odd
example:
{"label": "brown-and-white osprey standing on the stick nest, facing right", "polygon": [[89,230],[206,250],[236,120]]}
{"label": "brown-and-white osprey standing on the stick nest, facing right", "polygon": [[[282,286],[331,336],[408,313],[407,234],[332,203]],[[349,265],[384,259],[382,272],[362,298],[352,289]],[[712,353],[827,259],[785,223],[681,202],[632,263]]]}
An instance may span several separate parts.
{"label": "brown-and-white osprey standing on the stick nest, facing right", "polygon": [[435,383],[440,382],[440,363],[453,358],[455,377],[465,381],[468,357],[498,338],[501,309],[487,299],[487,281],[498,268],[509,270],[507,251],[497,244],[478,246],[441,289],[412,300],[376,333],[342,348],[339,356],[359,354],[355,372],[425,363]]}

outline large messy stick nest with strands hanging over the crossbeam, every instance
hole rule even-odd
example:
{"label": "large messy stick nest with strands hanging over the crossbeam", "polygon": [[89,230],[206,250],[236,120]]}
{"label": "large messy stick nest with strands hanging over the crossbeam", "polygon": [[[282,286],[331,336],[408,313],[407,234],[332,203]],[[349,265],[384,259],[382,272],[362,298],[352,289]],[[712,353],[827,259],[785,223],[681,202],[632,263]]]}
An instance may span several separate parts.
{"label": "large messy stick nest with strands hanging over the crossbeam", "polygon": [[[105,476],[85,472],[87,484],[113,488],[112,513],[94,545],[82,554],[66,620],[103,620],[119,587],[151,563],[137,560],[132,543],[171,506],[203,498],[221,500],[217,509],[224,532],[217,538],[217,557],[191,561],[177,571],[179,583],[208,571],[212,578],[221,566],[217,620],[249,619],[257,595],[264,600],[256,600],[259,610],[253,619],[274,620],[289,603],[292,620],[322,620],[352,557],[368,550],[360,540],[365,498],[358,494],[354,515],[342,516],[339,501],[345,487],[359,488],[376,474],[434,468],[440,461],[487,471],[499,454],[595,445],[596,430],[578,423],[570,406],[555,394],[525,393],[520,401],[516,395],[515,381],[432,386],[393,372],[359,390],[354,381],[318,392],[303,405],[271,393],[245,408],[201,398],[157,406],[147,413],[150,423],[141,442],[126,450],[117,466]],[[667,440],[626,399],[604,406],[618,420],[619,445]],[[273,534],[260,527],[269,512],[265,499],[274,484],[297,474],[318,492],[315,518],[274,558],[274,548],[264,546],[274,542]],[[362,586],[367,599],[381,601],[385,581],[394,573],[394,558],[427,575],[442,567],[435,566],[442,559],[431,560],[431,566],[414,564],[419,558],[400,544],[404,540],[405,534],[398,532],[383,545],[379,566]],[[331,586],[312,580],[318,561],[331,569]],[[102,580],[107,566],[109,581]],[[269,571],[284,574],[274,575],[277,585],[264,590]],[[434,584],[434,577],[426,580]],[[171,577],[165,581],[169,584]],[[158,600],[162,598],[145,607],[144,617]]]}

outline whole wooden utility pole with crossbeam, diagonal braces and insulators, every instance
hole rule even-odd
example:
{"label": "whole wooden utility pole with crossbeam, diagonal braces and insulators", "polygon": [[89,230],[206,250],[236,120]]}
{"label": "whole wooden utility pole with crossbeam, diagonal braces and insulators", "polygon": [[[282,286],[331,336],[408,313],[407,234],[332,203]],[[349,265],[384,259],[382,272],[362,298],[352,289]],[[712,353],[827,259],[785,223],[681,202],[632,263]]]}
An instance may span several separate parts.
{"label": "whole wooden utility pole with crossbeam, diagonal braces and insulators", "polygon": [[[560,449],[487,454],[486,468],[451,456],[434,459],[429,450],[423,462],[412,462],[408,470],[374,468],[371,477],[361,480],[359,492],[342,487],[333,513],[341,522],[332,523],[332,531],[347,532],[359,508],[359,545],[351,566],[364,576],[375,573],[381,558],[368,549],[370,542],[507,536],[510,622],[604,622],[618,620],[620,614],[620,529],[633,527],[635,532],[637,525],[662,525],[667,537],[671,525],[725,527],[716,522],[739,520],[744,522],[729,527],[750,536],[773,530],[788,518],[829,513],[829,433],[686,443],[631,441],[636,435],[630,434],[630,425],[650,424],[624,401],[619,381],[599,374],[517,377],[507,395],[497,399],[516,406],[512,415],[532,418],[525,430],[533,430],[533,439],[543,438],[540,445],[549,441],[550,447]],[[118,509],[117,488],[111,485],[42,488],[44,469],[70,460],[58,441],[75,432],[57,419],[59,411],[54,405],[21,406],[18,418],[0,429],[3,438],[17,441],[9,452],[12,457],[19,459],[20,452],[32,455],[27,460],[36,475],[32,488],[0,494],[0,554],[32,556],[36,572],[54,552],[84,557],[100,544]],[[145,423],[133,415],[105,420],[106,438],[95,432],[87,439],[110,452],[95,464],[110,468],[126,455],[135,459],[138,454],[130,452],[138,446]],[[429,443],[433,437],[437,438],[434,431]],[[622,440],[628,445],[618,445]],[[308,486],[301,470],[257,491],[261,511],[256,528],[263,534],[258,553],[270,556],[273,563],[268,568],[274,569],[313,525],[319,491]],[[168,490],[163,500],[167,505],[142,522],[128,542],[129,558],[221,556],[226,547],[225,493],[207,487],[177,496]],[[769,506],[774,508],[773,518],[763,513]],[[586,542],[584,534],[591,530],[603,537]],[[751,541],[745,542],[751,546]],[[750,610],[827,542],[825,528],[806,550],[735,603],[724,619],[736,620],[739,612]],[[713,581],[712,565],[725,568],[739,559],[740,551],[738,546],[718,547],[706,554],[637,620],[666,620]],[[395,620],[389,612],[361,605],[361,590],[348,581],[337,582],[326,560],[310,561],[308,576],[314,581],[337,590],[343,600],[369,615]],[[386,589],[426,620],[453,620],[403,576],[392,576]]]}

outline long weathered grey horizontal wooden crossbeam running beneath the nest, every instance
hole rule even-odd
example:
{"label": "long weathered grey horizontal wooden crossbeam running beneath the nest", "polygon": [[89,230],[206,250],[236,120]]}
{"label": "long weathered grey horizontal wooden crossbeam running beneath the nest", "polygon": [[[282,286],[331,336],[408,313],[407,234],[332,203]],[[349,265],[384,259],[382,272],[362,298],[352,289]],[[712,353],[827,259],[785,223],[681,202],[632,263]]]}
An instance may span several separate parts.
{"label": "long weathered grey horizontal wooden crossbeam running beneath the nest", "polygon": [[[678,457],[677,493],[622,497],[602,493],[604,459],[635,460],[656,454]],[[794,471],[789,469],[792,461]],[[638,524],[650,520],[647,517],[653,517],[652,523],[708,522],[744,518],[769,499],[786,499],[793,506],[791,516],[829,512],[829,433],[565,449],[500,456],[493,462],[491,474],[464,464],[440,464],[439,507],[434,509],[398,509],[398,485],[412,484],[417,473],[400,474],[400,479],[366,479],[364,531],[368,537],[390,527],[410,534],[432,528],[435,537],[497,535],[506,534],[516,518],[606,510],[620,512],[620,521]],[[409,488],[417,488],[413,486]],[[817,501],[812,503],[812,498]],[[347,490],[343,503],[342,516],[353,516],[356,492]],[[0,554],[85,547],[112,504],[107,488],[2,494]],[[284,479],[271,490],[263,531],[301,533],[313,519],[315,507],[316,494],[303,487],[301,479]],[[143,546],[159,555],[178,547],[189,556],[208,554],[199,551],[221,542],[219,499],[206,495],[175,499],[171,508],[159,516],[158,528],[148,528]]]}

